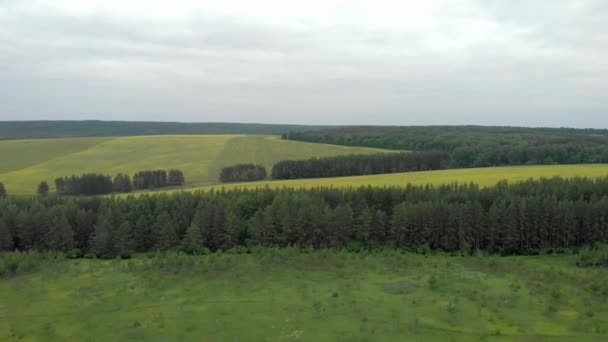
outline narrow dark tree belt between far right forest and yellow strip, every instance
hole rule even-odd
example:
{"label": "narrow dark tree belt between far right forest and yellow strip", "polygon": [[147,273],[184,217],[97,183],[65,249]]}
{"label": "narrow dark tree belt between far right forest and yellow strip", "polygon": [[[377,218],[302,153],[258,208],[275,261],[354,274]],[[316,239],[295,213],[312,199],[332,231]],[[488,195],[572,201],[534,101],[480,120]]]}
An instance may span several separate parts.
{"label": "narrow dark tree belt between far right forest and yellow strip", "polygon": [[286,160],[272,167],[273,179],[322,178],[445,169],[445,152],[377,153]]}

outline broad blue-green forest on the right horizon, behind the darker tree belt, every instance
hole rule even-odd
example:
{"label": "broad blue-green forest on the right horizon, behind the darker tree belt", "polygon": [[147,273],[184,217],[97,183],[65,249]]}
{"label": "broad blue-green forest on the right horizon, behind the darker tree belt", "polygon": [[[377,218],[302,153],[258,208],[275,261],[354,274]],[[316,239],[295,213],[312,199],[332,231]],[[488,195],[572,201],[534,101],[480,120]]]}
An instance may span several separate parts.
{"label": "broad blue-green forest on the right horizon, behind the darker tree belt", "polygon": [[285,139],[394,150],[443,151],[451,168],[608,162],[608,130],[483,126],[338,127]]}

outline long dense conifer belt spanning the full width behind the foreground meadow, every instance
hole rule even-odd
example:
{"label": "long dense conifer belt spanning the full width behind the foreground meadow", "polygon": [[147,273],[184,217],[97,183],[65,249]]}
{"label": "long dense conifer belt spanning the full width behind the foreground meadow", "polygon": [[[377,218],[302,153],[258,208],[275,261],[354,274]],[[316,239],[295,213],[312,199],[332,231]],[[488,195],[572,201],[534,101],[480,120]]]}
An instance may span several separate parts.
{"label": "long dense conifer belt spanning the full width behind the foreground meadow", "polygon": [[239,246],[526,254],[608,241],[608,177],[0,199],[0,249],[100,257]]}

